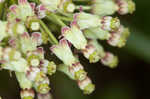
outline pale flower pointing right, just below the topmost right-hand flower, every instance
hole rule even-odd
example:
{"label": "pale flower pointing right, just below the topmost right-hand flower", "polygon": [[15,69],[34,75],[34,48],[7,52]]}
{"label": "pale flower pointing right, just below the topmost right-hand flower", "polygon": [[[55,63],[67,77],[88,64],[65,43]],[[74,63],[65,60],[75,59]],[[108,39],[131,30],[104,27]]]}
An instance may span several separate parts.
{"label": "pale flower pointing right, just below the topmost right-hand flower", "polygon": [[99,17],[97,15],[92,15],[85,12],[76,13],[74,15],[74,21],[81,30],[88,28],[100,27],[105,31],[117,30],[120,26],[120,21],[118,18],[113,18],[111,16]]}

